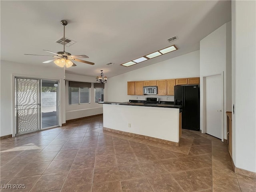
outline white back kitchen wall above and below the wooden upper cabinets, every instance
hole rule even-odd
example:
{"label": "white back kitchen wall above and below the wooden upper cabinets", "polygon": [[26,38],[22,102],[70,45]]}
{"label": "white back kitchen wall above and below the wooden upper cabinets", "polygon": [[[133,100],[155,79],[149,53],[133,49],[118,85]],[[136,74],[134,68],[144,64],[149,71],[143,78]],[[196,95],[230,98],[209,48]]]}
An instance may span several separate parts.
{"label": "white back kitchen wall above and below the wooden upper cabinets", "polygon": [[[145,97],[158,97],[161,101],[174,101],[174,96],[166,95],[127,95],[128,81],[161,80],[172,78],[199,77],[199,50],[159,62],[144,68],[130,71],[108,79],[108,101],[126,102],[129,99],[145,100]],[[139,64],[137,64],[139,65]],[[169,100],[167,100],[167,97]]]}

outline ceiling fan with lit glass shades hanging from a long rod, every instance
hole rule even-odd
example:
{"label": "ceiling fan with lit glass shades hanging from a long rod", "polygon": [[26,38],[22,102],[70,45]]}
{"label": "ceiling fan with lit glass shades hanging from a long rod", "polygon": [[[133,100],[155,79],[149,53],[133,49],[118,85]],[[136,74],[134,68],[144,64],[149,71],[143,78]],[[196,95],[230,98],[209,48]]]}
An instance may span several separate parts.
{"label": "ceiling fan with lit glass shades hanging from a long rod", "polygon": [[[60,66],[60,67],[71,67],[71,66],[76,66],[76,64],[74,64],[72,61],[78,61],[78,62],[83,62],[86,64],[90,64],[90,65],[94,65],[94,63],[89,62],[89,61],[84,61],[78,58],[89,58],[86,55],[71,55],[68,52],[65,52],[65,26],[68,24],[68,22],[66,20],[61,20],[60,23],[64,26],[64,43],[63,43],[63,52],[59,51],[57,53],[54,53],[52,51],[48,51],[48,50],[44,50],[46,52],[52,53],[55,56],[51,56],[51,55],[36,55],[36,56],[50,56],[50,57],[54,57],[54,59],[45,61],[43,63],[50,63],[50,62],[54,62],[56,65]],[[24,55],[34,55],[34,54],[24,54]]]}

